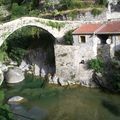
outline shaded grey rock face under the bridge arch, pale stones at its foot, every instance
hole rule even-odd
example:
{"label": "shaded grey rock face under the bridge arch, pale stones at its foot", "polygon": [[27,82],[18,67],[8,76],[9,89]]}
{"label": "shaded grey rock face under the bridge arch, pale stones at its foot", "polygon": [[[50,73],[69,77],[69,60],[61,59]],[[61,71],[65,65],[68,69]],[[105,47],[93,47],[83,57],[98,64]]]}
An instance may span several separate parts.
{"label": "shaded grey rock face under the bridge arch, pale stones at its foot", "polygon": [[45,51],[42,48],[31,50],[21,62],[19,68],[23,71],[32,69],[34,75],[41,77],[45,77],[49,73],[54,74],[54,51],[50,51],[51,53],[49,53],[48,50]]}

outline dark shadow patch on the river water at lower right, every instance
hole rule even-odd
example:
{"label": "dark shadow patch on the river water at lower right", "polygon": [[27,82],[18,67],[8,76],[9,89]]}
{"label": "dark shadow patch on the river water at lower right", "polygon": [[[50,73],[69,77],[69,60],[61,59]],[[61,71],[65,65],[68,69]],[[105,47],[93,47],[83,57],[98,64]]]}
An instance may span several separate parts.
{"label": "dark shadow patch on the river water at lower right", "polygon": [[110,113],[115,116],[120,116],[120,105],[116,105],[112,101],[102,100],[102,105],[106,108]]}

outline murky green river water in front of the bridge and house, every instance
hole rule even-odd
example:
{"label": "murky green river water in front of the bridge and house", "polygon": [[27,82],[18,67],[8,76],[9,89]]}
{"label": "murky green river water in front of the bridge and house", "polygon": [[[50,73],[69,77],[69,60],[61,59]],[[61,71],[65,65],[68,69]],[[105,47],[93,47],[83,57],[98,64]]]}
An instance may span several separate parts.
{"label": "murky green river water in front of the bridge and house", "polygon": [[[19,95],[26,99],[10,105],[13,112],[34,120],[120,120],[120,95],[80,86],[40,88],[40,82],[35,82],[6,89],[7,98]],[[29,119],[16,115],[15,120]]]}

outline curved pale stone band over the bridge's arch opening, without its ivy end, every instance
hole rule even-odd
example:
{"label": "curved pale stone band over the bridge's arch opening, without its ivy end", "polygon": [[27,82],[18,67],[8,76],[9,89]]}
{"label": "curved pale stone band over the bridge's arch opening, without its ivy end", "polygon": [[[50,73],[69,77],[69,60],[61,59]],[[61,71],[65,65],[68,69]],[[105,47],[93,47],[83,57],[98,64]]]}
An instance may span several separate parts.
{"label": "curved pale stone band over the bridge's arch opening, without its ivy end", "polygon": [[[4,23],[0,26],[0,46],[3,44],[4,40],[6,40],[12,33],[26,26],[38,27],[50,33],[54,38],[59,39],[63,35],[61,35],[60,30],[49,25],[50,21],[40,18],[23,17],[8,23]],[[51,23],[53,23],[53,21]]]}

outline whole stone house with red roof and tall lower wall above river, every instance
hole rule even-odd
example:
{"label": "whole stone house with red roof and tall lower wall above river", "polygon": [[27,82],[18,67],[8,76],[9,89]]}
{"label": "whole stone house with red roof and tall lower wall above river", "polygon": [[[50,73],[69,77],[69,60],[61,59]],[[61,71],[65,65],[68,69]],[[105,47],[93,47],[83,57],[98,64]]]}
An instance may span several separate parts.
{"label": "whole stone house with red roof and tall lower wall above river", "polygon": [[120,50],[120,21],[81,24],[72,34],[73,45],[55,46],[56,76],[63,85],[94,87],[87,62],[97,55],[108,61]]}

